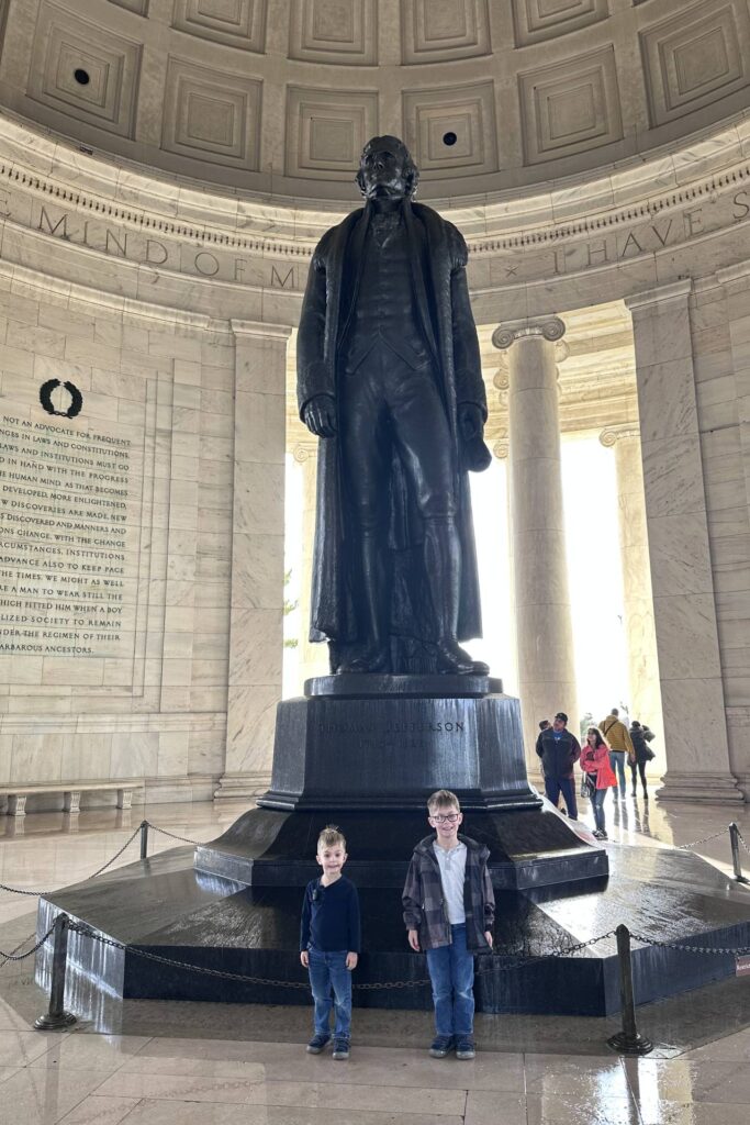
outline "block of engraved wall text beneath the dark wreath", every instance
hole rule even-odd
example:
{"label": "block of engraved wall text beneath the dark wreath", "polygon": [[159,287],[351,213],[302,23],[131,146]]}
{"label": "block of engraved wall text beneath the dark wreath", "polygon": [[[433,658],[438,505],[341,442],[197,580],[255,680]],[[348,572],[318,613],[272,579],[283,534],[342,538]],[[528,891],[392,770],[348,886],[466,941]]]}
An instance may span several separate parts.
{"label": "block of engraved wall text beneath the dark wreath", "polygon": [[132,655],[130,446],[0,415],[0,654]]}

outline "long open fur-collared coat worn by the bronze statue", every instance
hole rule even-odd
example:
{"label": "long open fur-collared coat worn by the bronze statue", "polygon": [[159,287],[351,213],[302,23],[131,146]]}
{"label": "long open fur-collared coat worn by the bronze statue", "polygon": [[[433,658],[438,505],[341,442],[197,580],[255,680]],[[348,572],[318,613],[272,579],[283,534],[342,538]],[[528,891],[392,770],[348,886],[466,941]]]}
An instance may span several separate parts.
{"label": "long open fur-collared coat worn by the bronze statue", "polygon": [[[468,471],[461,461],[457,407],[476,403],[487,417],[477,328],[466,279],[467,245],[461,233],[436,212],[421,204],[404,204],[412,244],[413,285],[426,342],[441,378],[452,436],[458,528],[461,540],[461,595],[458,639],[481,636],[479,576],[471,521]],[[353,212],[327,231],[310,264],[297,339],[297,394],[300,416],[316,395],[332,395],[336,403],[338,348],[354,305],[358,278],[350,262],[361,260],[370,208]],[[338,417],[338,428],[344,420]],[[345,422],[344,422],[345,424]],[[389,547],[394,552],[394,596],[390,630],[401,637],[430,637],[431,614],[424,605],[425,583],[415,574],[422,543],[422,520],[398,460],[390,477]],[[337,438],[322,439],[318,449],[317,521],[313,556],[310,640],[337,646],[358,639],[346,549],[343,466]]]}

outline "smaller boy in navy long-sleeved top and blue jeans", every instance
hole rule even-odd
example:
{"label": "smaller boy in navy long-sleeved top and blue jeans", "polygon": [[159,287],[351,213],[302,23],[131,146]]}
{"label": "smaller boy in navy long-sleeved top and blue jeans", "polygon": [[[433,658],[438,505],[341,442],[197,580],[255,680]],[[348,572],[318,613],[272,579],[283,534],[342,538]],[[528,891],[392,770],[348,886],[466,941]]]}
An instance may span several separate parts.
{"label": "smaller boy in navy long-sleeved top and blue jeans", "polygon": [[315,1035],[307,1050],[320,1054],[325,1048],[334,1008],[333,1058],[349,1059],[352,970],[356,969],[360,953],[360,900],[354,884],[341,873],[347,858],[346,840],[335,825],[320,832],[316,858],[323,874],[305,889],[299,936],[299,960],[310,974],[315,1001]]}

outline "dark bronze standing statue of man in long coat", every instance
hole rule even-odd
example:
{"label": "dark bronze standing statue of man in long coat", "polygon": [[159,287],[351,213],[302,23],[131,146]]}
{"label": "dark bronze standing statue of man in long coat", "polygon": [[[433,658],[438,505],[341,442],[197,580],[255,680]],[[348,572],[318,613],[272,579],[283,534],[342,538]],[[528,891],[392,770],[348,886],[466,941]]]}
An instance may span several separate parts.
{"label": "dark bronze standing statue of man in long coat", "polygon": [[373,137],[364,208],[313,255],[299,413],[320,438],[310,640],[333,672],[486,675],[468,470],[487,468],[487,399],[467,245],[413,202],[418,170]]}

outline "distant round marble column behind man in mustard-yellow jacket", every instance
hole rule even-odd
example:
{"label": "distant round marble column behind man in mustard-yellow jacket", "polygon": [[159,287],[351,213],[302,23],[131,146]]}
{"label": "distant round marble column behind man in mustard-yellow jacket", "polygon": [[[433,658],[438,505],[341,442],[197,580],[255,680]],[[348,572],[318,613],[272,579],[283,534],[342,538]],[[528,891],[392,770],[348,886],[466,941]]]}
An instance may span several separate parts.
{"label": "distant round marble column behind man in mustard-yellow jacket", "polygon": [[623,575],[625,638],[627,645],[627,695],[631,719],[647,723],[656,738],[650,773],[663,773],[665,731],[659,692],[659,656],[653,626],[653,597],[649,564],[649,536],[643,500],[641,430],[636,423],[606,426],[599,441],[615,451],[617,518]]}

